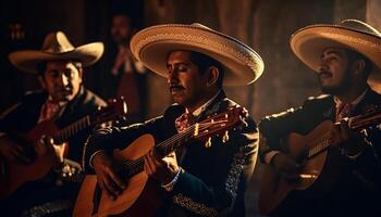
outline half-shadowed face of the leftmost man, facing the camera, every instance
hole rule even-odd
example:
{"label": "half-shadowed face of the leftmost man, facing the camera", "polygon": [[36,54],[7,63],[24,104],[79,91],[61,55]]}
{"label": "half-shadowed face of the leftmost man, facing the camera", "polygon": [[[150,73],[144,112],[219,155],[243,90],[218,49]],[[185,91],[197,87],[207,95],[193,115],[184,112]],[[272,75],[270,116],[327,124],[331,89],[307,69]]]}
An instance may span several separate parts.
{"label": "half-shadowed face of the leftmost man, facing the camera", "polygon": [[79,91],[82,71],[79,72],[71,61],[49,61],[40,82],[53,102],[67,102]]}

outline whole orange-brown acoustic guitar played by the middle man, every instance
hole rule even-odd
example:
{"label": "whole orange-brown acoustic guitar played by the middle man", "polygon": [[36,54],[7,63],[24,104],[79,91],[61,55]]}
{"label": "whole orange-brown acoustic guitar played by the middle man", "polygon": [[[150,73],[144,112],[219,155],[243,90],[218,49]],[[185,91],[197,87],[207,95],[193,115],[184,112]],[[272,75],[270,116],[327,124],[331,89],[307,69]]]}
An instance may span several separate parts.
{"label": "whole orange-brown acoustic guitar played by the middle man", "polygon": [[[160,206],[160,184],[149,179],[144,171],[144,155],[156,149],[162,155],[189,144],[194,141],[207,141],[210,145],[211,137],[221,132],[222,140],[229,139],[228,130],[245,124],[247,111],[243,107],[231,107],[202,122],[189,126],[186,130],[174,135],[159,144],[155,144],[151,135],[143,135],[123,150],[116,150],[113,157],[123,166],[123,177],[126,188],[122,194],[112,201],[101,192],[97,184],[97,176],[88,175],[84,179],[77,196],[73,216],[153,216]],[[157,195],[158,194],[158,195]],[[136,213],[135,213],[136,212]]]}

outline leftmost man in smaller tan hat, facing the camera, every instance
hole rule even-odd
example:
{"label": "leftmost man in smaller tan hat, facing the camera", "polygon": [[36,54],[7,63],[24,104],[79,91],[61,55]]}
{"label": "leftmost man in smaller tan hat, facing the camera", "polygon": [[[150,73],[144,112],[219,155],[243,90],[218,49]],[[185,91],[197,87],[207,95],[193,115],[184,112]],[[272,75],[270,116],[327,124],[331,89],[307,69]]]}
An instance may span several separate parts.
{"label": "leftmost man in smaller tan hat, facing the camera", "polygon": [[[102,52],[101,42],[75,48],[62,31],[56,31],[45,38],[41,50],[15,51],[9,55],[15,67],[38,77],[42,90],[27,93],[20,103],[1,114],[1,157],[28,164],[33,162],[32,155],[17,143],[19,140],[14,140],[15,132],[26,133],[42,122],[53,122],[59,128],[66,127],[106,106],[103,100],[82,85],[83,67],[96,63]],[[79,131],[69,140],[69,159],[81,162],[83,145],[90,130]],[[61,157],[58,156],[59,161],[62,161]],[[57,178],[58,173],[52,173],[42,180],[21,186],[14,194],[1,201],[1,215],[70,215],[78,183],[64,182],[58,187],[54,183]]]}

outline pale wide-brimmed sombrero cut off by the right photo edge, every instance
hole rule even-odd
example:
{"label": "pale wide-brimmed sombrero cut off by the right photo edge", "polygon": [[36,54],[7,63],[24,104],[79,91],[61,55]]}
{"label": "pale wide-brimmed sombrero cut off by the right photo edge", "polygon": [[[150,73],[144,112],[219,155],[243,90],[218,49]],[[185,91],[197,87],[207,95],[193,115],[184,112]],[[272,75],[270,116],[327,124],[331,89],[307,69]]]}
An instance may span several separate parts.
{"label": "pale wide-brimmed sombrero cut off by the right photo edge", "polygon": [[321,53],[327,48],[344,48],[361,53],[373,63],[368,82],[380,90],[381,34],[369,24],[344,20],[339,25],[311,25],[297,30],[290,43],[296,56],[316,72],[319,71]]}

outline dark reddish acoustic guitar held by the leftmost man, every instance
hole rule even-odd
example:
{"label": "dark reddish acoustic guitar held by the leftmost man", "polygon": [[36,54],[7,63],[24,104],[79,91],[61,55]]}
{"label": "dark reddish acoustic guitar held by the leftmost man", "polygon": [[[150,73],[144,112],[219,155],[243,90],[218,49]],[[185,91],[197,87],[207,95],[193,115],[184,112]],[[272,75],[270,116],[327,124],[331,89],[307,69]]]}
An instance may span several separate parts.
{"label": "dark reddish acoustic guitar held by the leftmost man", "polygon": [[126,112],[126,103],[123,98],[120,98],[110,101],[107,107],[97,111],[93,115],[86,115],[62,129],[59,129],[52,122],[42,122],[26,133],[10,133],[9,137],[12,140],[22,144],[28,151],[27,154],[33,157],[33,161],[29,164],[22,164],[1,159],[0,199],[10,196],[27,181],[42,178],[58,163],[52,145],[40,142],[42,138],[50,137],[54,144],[64,145],[64,142],[79,131],[112,119],[123,118]]}

